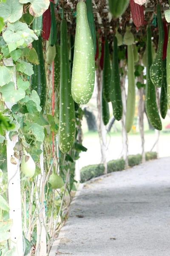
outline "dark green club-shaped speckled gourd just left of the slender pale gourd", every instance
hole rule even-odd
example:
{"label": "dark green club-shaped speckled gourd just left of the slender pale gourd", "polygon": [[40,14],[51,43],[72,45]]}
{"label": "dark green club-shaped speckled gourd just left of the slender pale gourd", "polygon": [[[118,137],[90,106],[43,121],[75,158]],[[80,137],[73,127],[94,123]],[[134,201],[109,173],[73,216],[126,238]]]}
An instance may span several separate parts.
{"label": "dark green club-shaped speckled gourd just left of the slender pale gourd", "polygon": [[113,60],[111,70],[111,102],[113,108],[113,116],[116,118],[116,120],[119,121],[122,118],[123,107],[120,87],[119,60],[116,36],[113,39]]}

